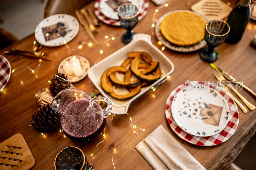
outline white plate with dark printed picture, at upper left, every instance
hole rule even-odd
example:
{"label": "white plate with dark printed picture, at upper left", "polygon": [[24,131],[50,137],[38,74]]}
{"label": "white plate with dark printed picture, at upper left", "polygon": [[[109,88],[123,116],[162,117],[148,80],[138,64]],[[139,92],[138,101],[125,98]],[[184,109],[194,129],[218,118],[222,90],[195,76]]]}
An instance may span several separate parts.
{"label": "white plate with dark printed picture, at upper left", "polygon": [[43,46],[61,46],[75,38],[78,30],[76,18],[68,14],[55,14],[44,18],[36,26],[35,37]]}

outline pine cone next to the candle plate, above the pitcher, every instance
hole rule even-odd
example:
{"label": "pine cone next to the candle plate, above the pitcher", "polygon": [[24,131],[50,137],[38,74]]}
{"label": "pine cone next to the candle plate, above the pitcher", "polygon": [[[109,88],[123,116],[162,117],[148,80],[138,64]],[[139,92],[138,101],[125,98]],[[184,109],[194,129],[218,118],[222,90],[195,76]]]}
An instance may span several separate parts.
{"label": "pine cone next to the candle plate, above the pitcher", "polygon": [[[52,82],[50,84],[50,91],[53,96],[56,96],[60,91],[68,89],[72,86],[71,81],[65,81],[63,79],[68,80],[68,77],[65,74],[57,74],[59,77],[54,75],[52,77]],[[61,79],[61,78],[63,79]]]}

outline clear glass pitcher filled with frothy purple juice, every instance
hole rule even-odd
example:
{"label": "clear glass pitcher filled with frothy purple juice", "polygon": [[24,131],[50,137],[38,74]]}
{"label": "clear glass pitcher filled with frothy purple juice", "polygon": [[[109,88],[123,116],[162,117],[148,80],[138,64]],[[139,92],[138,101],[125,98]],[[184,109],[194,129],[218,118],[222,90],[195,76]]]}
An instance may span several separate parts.
{"label": "clear glass pitcher filled with frothy purple juice", "polygon": [[[102,109],[97,103],[100,101],[108,106]],[[77,89],[62,90],[52,101],[52,110],[61,114],[62,130],[68,138],[77,142],[88,142],[101,134],[111,109],[112,103],[108,98],[91,98]]]}

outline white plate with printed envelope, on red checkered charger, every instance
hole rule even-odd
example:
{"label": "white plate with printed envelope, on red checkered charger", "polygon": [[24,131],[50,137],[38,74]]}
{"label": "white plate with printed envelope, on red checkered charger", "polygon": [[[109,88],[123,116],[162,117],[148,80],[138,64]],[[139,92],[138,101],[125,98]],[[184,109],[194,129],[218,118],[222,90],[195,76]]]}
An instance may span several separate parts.
{"label": "white plate with printed envelope, on red checkered charger", "polygon": [[201,86],[181,89],[172,101],[172,117],[178,126],[194,136],[212,136],[228,124],[226,100],[214,89]]}

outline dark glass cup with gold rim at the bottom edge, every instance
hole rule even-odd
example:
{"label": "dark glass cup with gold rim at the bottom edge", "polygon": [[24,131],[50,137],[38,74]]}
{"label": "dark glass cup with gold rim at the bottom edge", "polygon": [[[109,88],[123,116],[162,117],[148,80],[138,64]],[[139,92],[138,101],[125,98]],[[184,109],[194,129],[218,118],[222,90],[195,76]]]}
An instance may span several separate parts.
{"label": "dark glass cup with gold rim at the bottom edge", "polygon": [[61,149],[54,160],[55,170],[85,170],[87,166],[83,151],[75,146]]}

